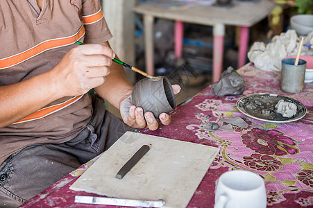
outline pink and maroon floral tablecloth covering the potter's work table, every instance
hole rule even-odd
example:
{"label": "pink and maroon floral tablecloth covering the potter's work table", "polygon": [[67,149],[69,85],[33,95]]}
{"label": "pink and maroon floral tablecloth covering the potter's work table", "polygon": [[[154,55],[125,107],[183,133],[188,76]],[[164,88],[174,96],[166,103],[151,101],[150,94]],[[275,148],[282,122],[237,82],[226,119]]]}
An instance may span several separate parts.
{"label": "pink and maroon floral tablecloth covering the potter's work table", "polygon": [[[243,95],[273,93],[289,96],[307,107],[303,119],[292,123],[266,123],[251,119],[237,110],[241,96],[217,97],[209,86],[189,102],[171,112],[172,123],[159,130],[142,133],[189,141],[221,148],[187,207],[213,207],[215,182],[230,170],[243,169],[260,175],[267,189],[269,207],[307,207],[313,205],[313,83],[306,83],[299,94],[280,90],[280,74],[256,69],[246,64],[239,73],[246,81]],[[208,132],[205,123],[220,117],[242,117],[248,128],[232,125],[233,132]],[[74,196],[96,196],[69,189],[96,159],[79,167],[22,207],[90,207],[74,204]],[[101,207],[93,205],[92,207]],[[102,206],[103,207],[103,206]]]}

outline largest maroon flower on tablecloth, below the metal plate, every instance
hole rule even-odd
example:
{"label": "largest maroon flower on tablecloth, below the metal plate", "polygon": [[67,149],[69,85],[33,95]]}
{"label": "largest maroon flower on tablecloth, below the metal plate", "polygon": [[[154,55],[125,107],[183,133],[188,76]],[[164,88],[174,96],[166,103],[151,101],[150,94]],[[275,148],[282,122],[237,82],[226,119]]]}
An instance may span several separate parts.
{"label": "largest maroon flower on tablecloth, below the metal plate", "polygon": [[266,155],[295,155],[299,153],[296,142],[278,130],[253,128],[242,136],[242,143],[256,153]]}

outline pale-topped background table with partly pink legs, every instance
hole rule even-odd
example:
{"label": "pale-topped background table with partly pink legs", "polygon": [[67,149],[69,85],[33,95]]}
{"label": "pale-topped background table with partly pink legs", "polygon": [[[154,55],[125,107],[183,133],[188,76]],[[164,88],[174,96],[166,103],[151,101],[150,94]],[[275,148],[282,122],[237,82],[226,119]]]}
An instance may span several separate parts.
{"label": "pale-topped background table with partly pink legs", "polygon": [[219,80],[223,67],[223,42],[225,26],[240,26],[240,44],[238,68],[246,63],[249,27],[267,17],[274,8],[268,0],[255,3],[238,3],[234,1],[230,7],[194,6],[186,10],[171,10],[153,4],[139,4],[134,11],[144,16],[144,42],[146,72],[154,74],[153,64],[153,20],[155,17],[176,21],[175,54],[180,58],[183,51],[183,22],[213,26],[213,81]]}

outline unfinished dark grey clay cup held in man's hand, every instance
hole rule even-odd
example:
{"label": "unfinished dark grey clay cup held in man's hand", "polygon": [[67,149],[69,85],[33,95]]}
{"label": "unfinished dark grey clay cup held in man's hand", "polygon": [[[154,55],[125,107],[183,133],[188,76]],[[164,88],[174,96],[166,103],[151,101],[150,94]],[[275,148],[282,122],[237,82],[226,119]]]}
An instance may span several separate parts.
{"label": "unfinished dark grey clay cup held in man's hand", "polygon": [[142,107],[144,113],[152,112],[155,118],[162,112],[171,112],[176,107],[173,88],[164,76],[139,80],[131,96],[136,107]]}

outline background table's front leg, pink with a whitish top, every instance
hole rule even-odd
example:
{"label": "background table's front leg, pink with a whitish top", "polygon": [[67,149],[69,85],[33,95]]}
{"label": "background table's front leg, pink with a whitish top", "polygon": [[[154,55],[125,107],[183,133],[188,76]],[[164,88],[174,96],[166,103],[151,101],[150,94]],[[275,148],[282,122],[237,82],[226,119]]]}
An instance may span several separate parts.
{"label": "background table's front leg, pink with a whitish top", "polygon": [[223,49],[224,49],[225,26],[215,24],[213,26],[213,82],[219,81],[223,68]]}

